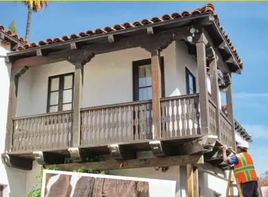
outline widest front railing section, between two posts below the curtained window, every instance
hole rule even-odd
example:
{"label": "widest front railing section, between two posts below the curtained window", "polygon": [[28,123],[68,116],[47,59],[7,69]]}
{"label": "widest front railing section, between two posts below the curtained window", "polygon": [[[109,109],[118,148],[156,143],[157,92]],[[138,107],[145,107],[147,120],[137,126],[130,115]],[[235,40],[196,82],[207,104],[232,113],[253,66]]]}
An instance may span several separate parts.
{"label": "widest front railing section, between two posts below the curtained window", "polygon": [[81,116],[81,145],[153,139],[151,100],[84,108]]}

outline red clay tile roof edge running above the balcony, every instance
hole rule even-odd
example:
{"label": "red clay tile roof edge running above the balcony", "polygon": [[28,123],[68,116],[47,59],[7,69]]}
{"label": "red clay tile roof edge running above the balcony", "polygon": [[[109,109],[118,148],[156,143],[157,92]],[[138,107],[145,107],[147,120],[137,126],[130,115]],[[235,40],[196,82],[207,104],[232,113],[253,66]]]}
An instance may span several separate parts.
{"label": "red clay tile roof edge running above the balcony", "polygon": [[[215,8],[212,3],[207,3],[207,5],[203,6],[202,8],[197,8],[193,10],[192,12],[184,11],[181,14],[178,12],[175,12],[171,15],[169,14],[164,14],[162,17],[153,17],[151,20],[150,19],[143,19],[142,21],[135,21],[134,23],[123,23],[122,25],[114,25],[113,27],[106,27],[104,29],[98,28],[97,30],[87,30],[86,32],[80,32],[79,34],[71,34],[70,36],[63,36],[61,38],[55,38],[55,39],[46,39],[46,41],[39,41],[39,43],[26,43],[23,46],[19,46],[17,48],[17,51],[19,50],[25,50],[28,48],[35,48],[38,47],[39,45],[49,45],[52,43],[59,43],[63,41],[68,41],[68,40],[74,40],[74,39],[79,39],[81,37],[90,37],[95,34],[105,34],[107,32],[115,32],[118,30],[124,30],[128,28],[135,28],[137,26],[141,25],[149,25],[151,23],[159,23],[161,21],[169,21],[173,19],[179,19],[182,17],[189,17],[195,14],[202,14],[202,13],[207,13],[211,12],[213,14],[213,17],[216,19],[218,25],[220,26],[220,21],[218,18],[218,14],[214,12]],[[222,29],[222,26],[220,26],[220,30],[222,31],[222,34],[224,35],[225,39],[227,40],[229,47],[231,48],[233,54],[236,56],[236,59],[238,60],[239,65],[242,66],[242,61],[240,60],[238,53],[236,50],[233,48],[233,44],[231,43],[231,40],[229,39],[228,35],[224,32]]]}

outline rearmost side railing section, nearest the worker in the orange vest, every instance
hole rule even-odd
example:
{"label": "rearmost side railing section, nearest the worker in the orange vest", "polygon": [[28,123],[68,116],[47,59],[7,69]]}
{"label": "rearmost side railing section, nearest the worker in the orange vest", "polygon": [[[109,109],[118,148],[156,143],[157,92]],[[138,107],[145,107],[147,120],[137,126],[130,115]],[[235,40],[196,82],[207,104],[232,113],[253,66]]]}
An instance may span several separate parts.
{"label": "rearmost side railing section, nearest the worker in the orange vest", "polygon": [[228,147],[233,147],[233,127],[227,116],[220,111],[220,136],[221,141]]}

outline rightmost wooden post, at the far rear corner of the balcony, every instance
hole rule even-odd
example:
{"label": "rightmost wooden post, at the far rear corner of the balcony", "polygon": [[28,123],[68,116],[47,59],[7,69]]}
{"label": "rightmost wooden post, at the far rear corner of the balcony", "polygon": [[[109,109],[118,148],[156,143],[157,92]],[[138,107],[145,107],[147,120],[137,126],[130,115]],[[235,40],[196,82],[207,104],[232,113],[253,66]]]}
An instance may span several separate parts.
{"label": "rightmost wooden post, at the far rear corner of the balcony", "polygon": [[[231,79],[231,72],[229,73],[229,78]],[[236,132],[233,120],[233,98],[231,95],[231,83],[229,84],[226,90],[226,103],[227,103],[227,118],[229,119],[232,125],[233,149],[236,150]]]}

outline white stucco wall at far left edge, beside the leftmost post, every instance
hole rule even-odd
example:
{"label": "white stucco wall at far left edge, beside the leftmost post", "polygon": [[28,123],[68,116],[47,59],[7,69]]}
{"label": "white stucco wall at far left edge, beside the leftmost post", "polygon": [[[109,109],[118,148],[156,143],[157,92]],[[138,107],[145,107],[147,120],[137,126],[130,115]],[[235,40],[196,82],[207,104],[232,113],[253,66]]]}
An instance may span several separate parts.
{"label": "white stucco wall at far left edge, beside the leftmost post", "polygon": [[[6,118],[8,112],[8,94],[11,70],[11,65],[5,62],[5,56],[9,50],[9,48],[3,48],[0,44],[0,79],[2,84],[0,102],[0,154],[3,154],[5,151]],[[25,171],[6,168],[6,166],[2,163],[2,160],[0,160],[0,175],[0,185],[4,186],[3,196],[25,196]]]}

